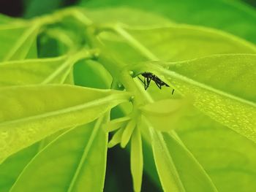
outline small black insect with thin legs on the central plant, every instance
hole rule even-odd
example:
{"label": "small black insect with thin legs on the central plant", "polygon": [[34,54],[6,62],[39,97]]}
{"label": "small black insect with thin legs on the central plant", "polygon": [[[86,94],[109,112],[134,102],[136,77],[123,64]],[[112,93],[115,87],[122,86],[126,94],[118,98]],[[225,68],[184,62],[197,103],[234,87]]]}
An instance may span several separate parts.
{"label": "small black insect with thin legs on the central plant", "polygon": [[[144,80],[141,80],[140,77],[138,77],[138,78],[140,79],[141,82],[143,82],[145,90],[147,90],[151,80],[153,80],[156,83],[156,85],[159,89],[161,89],[162,86],[164,86],[164,85],[166,87],[170,87],[169,85],[167,85],[167,83],[160,80],[159,77],[157,77],[157,75],[152,74],[151,72],[143,72],[141,75],[144,77]],[[173,93],[174,93],[174,89],[172,91],[172,95],[173,95]]]}

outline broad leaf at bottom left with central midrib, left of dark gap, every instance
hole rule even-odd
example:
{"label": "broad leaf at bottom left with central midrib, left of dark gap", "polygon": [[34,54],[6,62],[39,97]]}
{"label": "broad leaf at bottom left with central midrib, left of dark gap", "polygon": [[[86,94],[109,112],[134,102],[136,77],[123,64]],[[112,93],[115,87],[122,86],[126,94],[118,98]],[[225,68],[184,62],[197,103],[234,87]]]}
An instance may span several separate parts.
{"label": "broad leaf at bottom left with central midrib, left of dark gap", "polygon": [[[26,166],[11,191],[102,191],[108,142],[103,121],[72,128],[51,142]],[[42,187],[42,181],[47,185]]]}

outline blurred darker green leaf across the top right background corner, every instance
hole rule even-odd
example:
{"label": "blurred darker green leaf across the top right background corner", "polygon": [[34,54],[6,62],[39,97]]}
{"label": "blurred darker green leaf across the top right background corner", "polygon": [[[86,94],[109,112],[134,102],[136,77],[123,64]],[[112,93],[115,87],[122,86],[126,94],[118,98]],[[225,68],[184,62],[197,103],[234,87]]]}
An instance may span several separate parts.
{"label": "blurred darker green leaf across the top right background corner", "polygon": [[249,41],[256,42],[255,10],[241,2],[215,0],[83,0],[80,4],[90,9],[125,6],[145,11],[150,10],[151,13],[165,16],[177,23],[219,28],[239,37],[244,37]]}

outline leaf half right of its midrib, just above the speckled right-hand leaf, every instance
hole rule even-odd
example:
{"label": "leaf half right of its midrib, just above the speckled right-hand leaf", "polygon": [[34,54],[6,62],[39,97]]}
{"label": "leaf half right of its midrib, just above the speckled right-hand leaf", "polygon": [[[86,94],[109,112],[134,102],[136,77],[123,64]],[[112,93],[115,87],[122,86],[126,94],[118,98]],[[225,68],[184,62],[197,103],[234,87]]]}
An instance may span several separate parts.
{"label": "leaf half right of its midrib, just above the speckled right-hand leaf", "polygon": [[217,53],[256,53],[255,45],[211,28],[172,25],[148,30],[128,29],[127,32],[165,61],[180,61]]}

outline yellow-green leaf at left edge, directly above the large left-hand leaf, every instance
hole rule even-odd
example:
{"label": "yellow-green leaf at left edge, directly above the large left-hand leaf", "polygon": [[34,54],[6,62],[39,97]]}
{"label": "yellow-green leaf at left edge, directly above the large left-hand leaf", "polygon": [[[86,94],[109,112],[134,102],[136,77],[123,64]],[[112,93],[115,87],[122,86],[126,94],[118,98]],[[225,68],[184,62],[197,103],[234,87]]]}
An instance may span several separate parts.
{"label": "yellow-green leaf at left edge, directly above the large left-hand leaf", "polygon": [[63,83],[72,66],[82,58],[91,58],[90,51],[81,50],[58,58],[0,63],[0,86]]}

